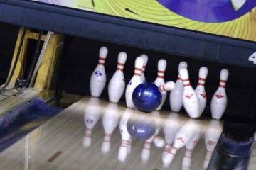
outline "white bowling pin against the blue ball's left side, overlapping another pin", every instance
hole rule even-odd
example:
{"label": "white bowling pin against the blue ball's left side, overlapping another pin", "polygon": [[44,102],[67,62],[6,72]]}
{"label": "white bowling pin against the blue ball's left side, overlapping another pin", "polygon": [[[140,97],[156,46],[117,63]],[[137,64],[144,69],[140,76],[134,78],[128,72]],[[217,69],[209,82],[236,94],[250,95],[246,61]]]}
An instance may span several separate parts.
{"label": "white bowling pin against the blue ball's left side, overlapping another pin", "polygon": [[137,57],[135,60],[134,76],[129,81],[129,84],[127,84],[127,88],[125,90],[125,101],[127,104],[127,108],[135,108],[134,103],[132,101],[132,93],[139,84],[142,84],[142,79],[141,79],[142,67],[143,67],[143,58]]}

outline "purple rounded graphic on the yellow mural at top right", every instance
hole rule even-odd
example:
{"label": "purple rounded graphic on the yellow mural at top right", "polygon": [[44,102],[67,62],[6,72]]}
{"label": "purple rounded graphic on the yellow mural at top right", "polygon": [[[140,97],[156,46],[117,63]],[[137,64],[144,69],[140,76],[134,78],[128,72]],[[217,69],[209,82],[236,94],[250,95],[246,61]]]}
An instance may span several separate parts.
{"label": "purple rounded graphic on the yellow mural at top right", "polygon": [[232,21],[252,11],[256,0],[157,0],[170,11],[205,23]]}

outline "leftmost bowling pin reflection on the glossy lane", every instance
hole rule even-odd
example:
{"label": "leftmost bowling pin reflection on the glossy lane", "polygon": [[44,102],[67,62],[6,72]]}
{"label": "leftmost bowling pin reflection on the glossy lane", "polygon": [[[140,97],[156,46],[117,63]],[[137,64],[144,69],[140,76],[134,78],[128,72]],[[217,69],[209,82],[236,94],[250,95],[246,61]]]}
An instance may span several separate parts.
{"label": "leftmost bowling pin reflection on the glossy lane", "polygon": [[89,147],[91,144],[92,128],[95,127],[100,118],[100,103],[99,98],[91,97],[85,108],[84,121],[86,126],[83,145]]}

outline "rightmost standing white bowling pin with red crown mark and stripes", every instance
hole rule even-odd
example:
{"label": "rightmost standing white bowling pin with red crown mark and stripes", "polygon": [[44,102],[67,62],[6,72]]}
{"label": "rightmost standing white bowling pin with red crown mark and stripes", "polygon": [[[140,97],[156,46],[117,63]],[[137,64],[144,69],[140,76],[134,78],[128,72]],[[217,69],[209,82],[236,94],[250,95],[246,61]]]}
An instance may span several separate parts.
{"label": "rightmost standing white bowling pin with red crown mark and stripes", "polygon": [[215,118],[217,120],[219,120],[222,117],[223,113],[225,112],[225,109],[227,108],[228,98],[225,91],[225,84],[227,82],[227,79],[228,69],[221,70],[219,87],[215,94],[213,95],[213,98],[210,102],[210,111],[212,118]]}

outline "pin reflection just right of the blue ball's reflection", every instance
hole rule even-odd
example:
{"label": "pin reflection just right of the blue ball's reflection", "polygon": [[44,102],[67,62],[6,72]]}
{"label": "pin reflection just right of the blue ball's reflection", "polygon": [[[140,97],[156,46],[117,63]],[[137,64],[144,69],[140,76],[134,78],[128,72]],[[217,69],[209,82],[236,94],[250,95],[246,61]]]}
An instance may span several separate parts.
{"label": "pin reflection just right of the blue ball's reflection", "polygon": [[[156,138],[156,136],[159,134],[160,128],[161,128],[161,119],[159,118],[160,113],[158,111],[154,111],[153,113],[151,113],[152,117],[154,119],[154,121],[156,122],[156,132],[155,134],[150,137],[148,140],[144,141],[144,147],[142,149],[142,153],[141,153],[141,159],[142,159],[142,163],[146,164],[149,160],[150,157],[150,152],[151,152],[151,143],[154,141],[154,139]],[[157,142],[161,142],[161,140],[159,138],[156,138],[159,141]]]}

